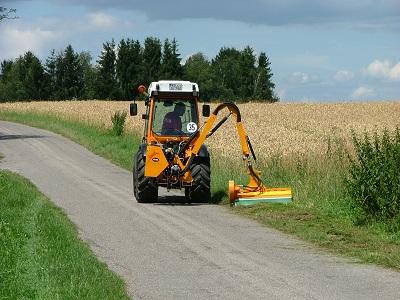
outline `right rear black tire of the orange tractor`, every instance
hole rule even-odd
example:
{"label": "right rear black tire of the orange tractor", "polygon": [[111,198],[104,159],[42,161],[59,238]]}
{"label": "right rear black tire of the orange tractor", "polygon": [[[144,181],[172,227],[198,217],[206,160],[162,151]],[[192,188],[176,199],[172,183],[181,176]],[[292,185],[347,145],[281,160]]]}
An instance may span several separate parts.
{"label": "right rear black tire of the orange tractor", "polygon": [[210,184],[210,158],[196,157],[190,166],[192,174],[192,186],[185,191],[186,198],[190,202],[208,203],[211,200]]}

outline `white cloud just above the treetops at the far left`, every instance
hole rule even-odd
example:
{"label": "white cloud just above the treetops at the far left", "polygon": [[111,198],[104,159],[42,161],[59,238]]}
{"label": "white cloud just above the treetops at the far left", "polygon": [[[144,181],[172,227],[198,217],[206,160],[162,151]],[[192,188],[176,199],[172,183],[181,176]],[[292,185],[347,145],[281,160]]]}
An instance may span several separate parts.
{"label": "white cloud just above the treetops at the far left", "polygon": [[0,44],[1,58],[16,58],[27,51],[40,53],[47,44],[58,38],[50,30],[36,28],[3,27],[0,29],[2,42]]}

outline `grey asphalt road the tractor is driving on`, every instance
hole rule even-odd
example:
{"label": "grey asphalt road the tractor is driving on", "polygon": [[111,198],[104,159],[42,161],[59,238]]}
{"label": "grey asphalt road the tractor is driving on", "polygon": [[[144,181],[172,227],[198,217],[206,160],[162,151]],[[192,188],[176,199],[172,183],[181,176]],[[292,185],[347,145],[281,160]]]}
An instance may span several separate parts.
{"label": "grey asphalt road the tractor is driving on", "polygon": [[179,204],[164,190],[178,203],[138,204],[130,172],[59,135],[0,121],[0,153],[0,168],[61,207],[135,299],[400,299],[400,273],[325,254],[223,207]]}

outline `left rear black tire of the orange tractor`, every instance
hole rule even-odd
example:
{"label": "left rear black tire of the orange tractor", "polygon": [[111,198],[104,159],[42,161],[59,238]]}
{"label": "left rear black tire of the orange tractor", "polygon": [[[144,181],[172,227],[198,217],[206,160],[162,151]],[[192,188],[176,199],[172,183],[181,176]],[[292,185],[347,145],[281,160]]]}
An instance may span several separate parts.
{"label": "left rear black tire of the orange tractor", "polygon": [[133,158],[133,194],[139,203],[154,203],[158,200],[158,187],[151,178],[144,176],[145,162],[139,150]]}

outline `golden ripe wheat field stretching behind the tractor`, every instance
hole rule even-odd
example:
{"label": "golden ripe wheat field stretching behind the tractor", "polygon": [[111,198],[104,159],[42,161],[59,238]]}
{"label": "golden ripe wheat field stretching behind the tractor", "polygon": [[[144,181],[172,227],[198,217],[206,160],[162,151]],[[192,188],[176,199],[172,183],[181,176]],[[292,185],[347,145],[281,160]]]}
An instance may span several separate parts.
{"label": "golden ripe wheat field stretching behind the tractor", "polygon": [[[213,109],[217,104],[212,104]],[[239,104],[242,122],[259,157],[291,153],[323,153],[328,140],[348,141],[351,130],[362,133],[400,126],[400,101],[339,104]],[[104,128],[111,127],[115,111],[129,110],[122,101],[52,101],[3,103],[0,110],[35,111],[56,114],[60,118],[78,120]],[[145,108],[138,105],[139,114],[128,117],[127,131],[142,133]],[[224,111],[220,113],[225,115]],[[202,122],[206,118],[202,118]],[[235,123],[226,122],[206,144],[212,153],[240,157],[240,145]]]}

